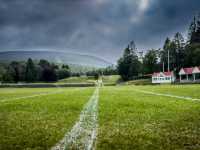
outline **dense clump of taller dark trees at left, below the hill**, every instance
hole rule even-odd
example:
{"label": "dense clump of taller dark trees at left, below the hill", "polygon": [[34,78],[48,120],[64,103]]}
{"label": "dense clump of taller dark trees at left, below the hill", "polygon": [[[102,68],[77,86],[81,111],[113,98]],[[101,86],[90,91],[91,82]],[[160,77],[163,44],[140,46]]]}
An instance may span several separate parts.
{"label": "dense clump of taller dark trees at left, below the hill", "polygon": [[54,82],[71,75],[68,65],[58,66],[44,59],[34,62],[31,58],[26,62],[12,61],[1,65],[0,72],[0,80],[7,83]]}

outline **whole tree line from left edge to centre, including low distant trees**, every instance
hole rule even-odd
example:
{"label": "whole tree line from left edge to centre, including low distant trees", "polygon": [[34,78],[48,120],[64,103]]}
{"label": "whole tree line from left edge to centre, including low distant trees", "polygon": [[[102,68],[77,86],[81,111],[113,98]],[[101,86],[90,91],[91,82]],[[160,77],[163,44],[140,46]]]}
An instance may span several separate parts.
{"label": "whole tree line from left edge to centre, including low distant trees", "polygon": [[[79,66],[80,67],[80,66]],[[56,82],[69,77],[88,76],[98,79],[101,75],[118,74],[116,67],[93,68],[91,71],[71,71],[68,65],[56,65],[47,60],[33,61],[29,58],[24,61],[12,61],[9,64],[0,64],[0,82]]]}

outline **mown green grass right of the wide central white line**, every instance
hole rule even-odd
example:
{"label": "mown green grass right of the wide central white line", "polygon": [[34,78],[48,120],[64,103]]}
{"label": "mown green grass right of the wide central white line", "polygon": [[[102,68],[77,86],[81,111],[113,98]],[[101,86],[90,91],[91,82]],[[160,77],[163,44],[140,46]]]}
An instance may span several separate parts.
{"label": "mown green grass right of the wide central white line", "polygon": [[97,149],[200,149],[200,102],[135,89],[190,95],[198,86],[186,86],[185,90],[170,85],[104,87],[100,91]]}

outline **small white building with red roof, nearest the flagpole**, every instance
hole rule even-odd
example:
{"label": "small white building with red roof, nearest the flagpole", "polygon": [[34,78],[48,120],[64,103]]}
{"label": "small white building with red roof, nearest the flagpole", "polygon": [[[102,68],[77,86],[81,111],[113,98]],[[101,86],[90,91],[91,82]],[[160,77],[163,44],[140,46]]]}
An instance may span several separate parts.
{"label": "small white building with red roof, nearest the flagpole", "polygon": [[173,72],[159,72],[152,75],[152,83],[154,84],[173,83],[175,79]]}

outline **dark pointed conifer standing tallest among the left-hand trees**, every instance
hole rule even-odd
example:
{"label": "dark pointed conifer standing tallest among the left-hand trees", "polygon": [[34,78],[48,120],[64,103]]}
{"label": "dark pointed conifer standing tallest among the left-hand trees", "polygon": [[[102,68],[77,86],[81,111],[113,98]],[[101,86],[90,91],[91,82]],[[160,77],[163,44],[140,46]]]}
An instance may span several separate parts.
{"label": "dark pointed conifer standing tallest among the left-hand trees", "polygon": [[37,80],[36,67],[31,58],[29,58],[26,63],[25,78],[27,82],[34,82]]}

